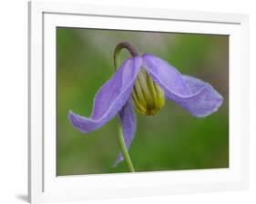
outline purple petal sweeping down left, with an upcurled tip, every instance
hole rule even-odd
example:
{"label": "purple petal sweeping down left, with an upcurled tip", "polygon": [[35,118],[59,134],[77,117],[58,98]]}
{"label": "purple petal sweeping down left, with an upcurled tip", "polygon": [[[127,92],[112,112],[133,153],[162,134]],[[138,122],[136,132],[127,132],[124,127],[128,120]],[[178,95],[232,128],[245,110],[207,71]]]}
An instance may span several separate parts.
{"label": "purple petal sweeping down left, with an upcurled tip", "polygon": [[133,57],[120,66],[117,73],[97,92],[90,118],[70,111],[68,117],[73,126],[87,133],[97,130],[117,115],[128,102],[141,63],[140,57]]}

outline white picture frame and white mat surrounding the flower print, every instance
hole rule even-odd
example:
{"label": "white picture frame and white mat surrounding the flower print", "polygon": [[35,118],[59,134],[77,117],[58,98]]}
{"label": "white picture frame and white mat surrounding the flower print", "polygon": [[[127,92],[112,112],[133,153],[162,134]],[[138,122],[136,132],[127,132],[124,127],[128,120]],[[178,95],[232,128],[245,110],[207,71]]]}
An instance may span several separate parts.
{"label": "white picture frame and white mat surrounding the flower print", "polygon": [[[229,34],[230,168],[56,177],[56,26]],[[248,189],[248,44],[248,15],[29,2],[29,201]]]}

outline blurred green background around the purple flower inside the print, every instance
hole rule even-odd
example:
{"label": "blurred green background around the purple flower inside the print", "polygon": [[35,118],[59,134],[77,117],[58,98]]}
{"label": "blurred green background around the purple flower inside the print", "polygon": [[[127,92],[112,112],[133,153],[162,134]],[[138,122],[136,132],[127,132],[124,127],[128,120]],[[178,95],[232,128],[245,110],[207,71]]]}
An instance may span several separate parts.
{"label": "blurred green background around the purple flower inside the print", "polygon": [[113,52],[122,41],[210,83],[224,98],[220,110],[206,118],[190,116],[169,101],[156,116],[137,113],[129,150],[136,171],[229,167],[229,36],[58,27],[57,175],[127,172],[124,162],[112,167],[119,152],[117,117],[87,135],[67,119],[69,110],[91,114],[98,88],[114,72]]}

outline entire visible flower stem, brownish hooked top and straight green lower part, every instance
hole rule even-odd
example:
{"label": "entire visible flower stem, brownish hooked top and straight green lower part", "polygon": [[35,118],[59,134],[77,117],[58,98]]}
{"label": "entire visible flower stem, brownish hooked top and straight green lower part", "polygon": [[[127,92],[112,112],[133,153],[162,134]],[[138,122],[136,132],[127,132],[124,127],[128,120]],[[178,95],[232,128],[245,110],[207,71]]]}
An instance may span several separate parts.
{"label": "entire visible flower stem, brownish hooked top and straight green lower part", "polygon": [[[115,49],[115,52],[114,52],[115,72],[117,72],[118,67],[120,65],[119,54],[120,54],[120,51],[123,48],[126,48],[128,50],[128,52],[132,56],[137,56],[138,55],[137,51],[135,50],[135,48],[131,44],[129,44],[127,42],[119,43],[116,46],[116,49]],[[128,171],[135,172],[133,164],[132,164],[132,161],[130,160],[130,157],[129,157],[129,154],[128,154],[128,149],[127,149],[126,144],[125,144],[125,140],[124,140],[124,135],[123,135],[121,124],[118,124],[118,143],[119,143],[122,155],[124,157],[124,160],[125,160],[125,162],[127,164]]]}

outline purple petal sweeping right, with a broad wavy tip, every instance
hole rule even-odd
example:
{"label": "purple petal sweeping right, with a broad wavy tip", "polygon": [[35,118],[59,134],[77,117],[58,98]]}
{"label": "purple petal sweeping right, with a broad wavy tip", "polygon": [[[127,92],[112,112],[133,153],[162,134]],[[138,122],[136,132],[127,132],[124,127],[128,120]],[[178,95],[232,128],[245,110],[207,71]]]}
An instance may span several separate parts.
{"label": "purple petal sweeping right, with a broad wavy tip", "polygon": [[164,90],[166,97],[177,102],[191,115],[204,117],[216,112],[223,99],[209,83],[181,75],[173,66],[152,54],[143,54],[142,66]]}

